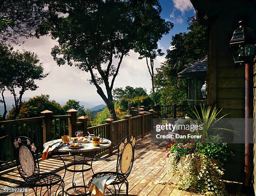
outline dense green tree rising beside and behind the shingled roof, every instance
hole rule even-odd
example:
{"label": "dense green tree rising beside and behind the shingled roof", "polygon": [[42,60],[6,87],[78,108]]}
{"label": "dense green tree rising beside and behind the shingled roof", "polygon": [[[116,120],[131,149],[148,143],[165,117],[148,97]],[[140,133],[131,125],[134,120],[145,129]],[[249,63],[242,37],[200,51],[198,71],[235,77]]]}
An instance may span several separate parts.
{"label": "dense green tree rising beside and behind the shingled roof", "polygon": [[186,99],[186,81],[177,78],[177,73],[189,64],[207,54],[207,28],[195,18],[188,19],[188,32],[172,36],[171,48],[160,68],[157,68],[154,81],[161,104],[167,99],[169,104],[179,104]]}

